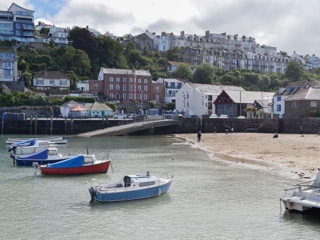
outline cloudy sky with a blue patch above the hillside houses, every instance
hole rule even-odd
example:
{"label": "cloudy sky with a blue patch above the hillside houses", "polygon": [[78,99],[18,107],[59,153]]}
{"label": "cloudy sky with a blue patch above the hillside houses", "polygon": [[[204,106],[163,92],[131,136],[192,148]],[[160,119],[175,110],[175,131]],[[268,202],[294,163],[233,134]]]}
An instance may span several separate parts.
{"label": "cloudy sky with a blue patch above the hillside houses", "polygon": [[[320,55],[319,0],[14,0],[35,10],[34,23],[86,26],[115,35],[148,29],[179,34],[253,36],[291,54]],[[1,0],[6,10],[12,1]]]}

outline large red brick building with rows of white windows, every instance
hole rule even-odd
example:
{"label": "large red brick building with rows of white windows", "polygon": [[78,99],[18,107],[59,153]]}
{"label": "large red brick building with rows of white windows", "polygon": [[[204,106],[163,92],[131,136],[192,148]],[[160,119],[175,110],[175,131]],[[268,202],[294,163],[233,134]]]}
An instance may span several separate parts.
{"label": "large red brick building with rows of white windows", "polygon": [[[142,101],[152,101],[157,95],[152,95],[152,85],[149,70],[101,67],[98,79],[90,80],[90,91],[108,100],[141,101],[142,98]],[[155,93],[156,89],[154,86]]]}

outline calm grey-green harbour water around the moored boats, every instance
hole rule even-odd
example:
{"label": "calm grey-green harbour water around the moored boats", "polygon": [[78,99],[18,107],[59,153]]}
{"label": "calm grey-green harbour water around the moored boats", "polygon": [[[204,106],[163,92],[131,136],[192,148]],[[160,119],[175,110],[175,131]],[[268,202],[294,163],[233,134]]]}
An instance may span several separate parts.
{"label": "calm grey-green harbour water around the moored boats", "polygon": [[[212,159],[165,136],[69,137],[68,153],[109,153],[114,173],[35,176],[0,135],[0,239],[320,239],[320,218],[280,211],[292,179]],[[173,160],[172,160],[173,158]],[[89,203],[91,178],[174,170],[159,197]],[[88,183],[86,183],[88,182]]]}

